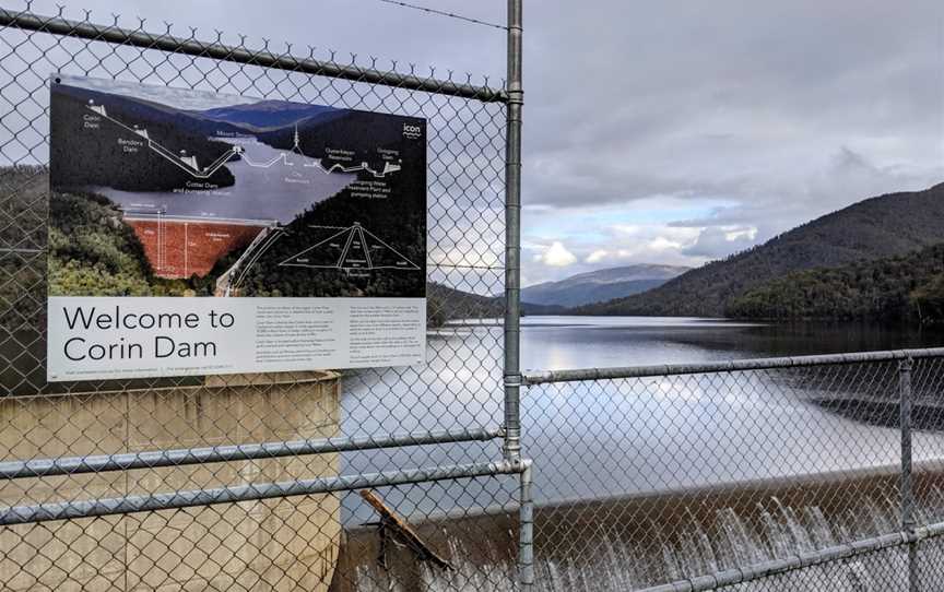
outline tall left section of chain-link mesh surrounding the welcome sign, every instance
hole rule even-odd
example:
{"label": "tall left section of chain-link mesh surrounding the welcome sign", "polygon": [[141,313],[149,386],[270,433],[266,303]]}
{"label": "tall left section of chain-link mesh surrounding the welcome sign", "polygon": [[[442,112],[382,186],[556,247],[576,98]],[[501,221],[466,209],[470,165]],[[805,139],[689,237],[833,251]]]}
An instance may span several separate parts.
{"label": "tall left section of chain-link mesh surrounding the welcome sign", "polygon": [[[374,58],[276,49],[268,40],[250,46],[245,37],[216,33],[206,38],[170,25],[154,31],[144,21],[117,17],[96,25],[87,12],[63,14],[62,9],[58,17],[26,11],[3,15],[0,462],[442,430],[479,430],[480,436],[453,443],[9,478],[0,481],[0,516],[9,517],[13,507],[140,499],[502,458],[495,440],[503,418],[502,332],[475,322],[500,316],[493,295],[504,289],[506,108],[487,79],[476,82],[477,96],[460,96],[461,87],[473,84],[471,78],[453,80],[451,73],[439,76]],[[343,376],[312,371],[47,383],[48,81],[56,73],[426,118],[427,295],[435,327],[427,364]],[[445,324],[451,319],[471,321]],[[329,492],[0,526],[0,588],[512,587],[517,477],[374,490],[448,567],[428,560],[402,533],[379,529],[380,516],[356,492]]]}

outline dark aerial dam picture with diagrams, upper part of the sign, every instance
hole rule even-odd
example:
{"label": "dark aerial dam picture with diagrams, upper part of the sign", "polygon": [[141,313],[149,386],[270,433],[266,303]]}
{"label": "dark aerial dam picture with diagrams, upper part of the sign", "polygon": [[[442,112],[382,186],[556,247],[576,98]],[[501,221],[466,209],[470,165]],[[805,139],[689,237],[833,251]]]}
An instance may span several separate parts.
{"label": "dark aerial dam picture with diagrams, upper part of the sign", "polygon": [[425,296],[424,119],[59,74],[50,121],[50,295]]}

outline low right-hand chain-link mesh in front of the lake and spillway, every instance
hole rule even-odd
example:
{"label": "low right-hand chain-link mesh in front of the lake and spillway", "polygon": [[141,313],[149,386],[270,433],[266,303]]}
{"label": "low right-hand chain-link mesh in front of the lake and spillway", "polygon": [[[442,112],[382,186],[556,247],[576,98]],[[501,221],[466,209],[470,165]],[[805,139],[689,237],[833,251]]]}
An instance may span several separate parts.
{"label": "low right-hand chain-link mesh in front of the lake and spillway", "polygon": [[[522,431],[536,589],[708,590],[730,581],[719,575],[745,590],[941,589],[931,542],[914,589],[901,540],[805,567],[824,549],[901,532],[905,371],[920,528],[944,508],[941,358],[913,370],[889,359],[531,387]],[[755,578],[770,565],[788,572]]]}

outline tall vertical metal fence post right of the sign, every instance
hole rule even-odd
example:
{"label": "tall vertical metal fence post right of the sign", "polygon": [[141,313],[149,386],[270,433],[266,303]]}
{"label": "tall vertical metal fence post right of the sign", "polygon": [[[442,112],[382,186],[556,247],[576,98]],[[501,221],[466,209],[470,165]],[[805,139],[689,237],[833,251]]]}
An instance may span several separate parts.
{"label": "tall vertical metal fence post right of the sign", "polygon": [[505,458],[521,457],[521,0],[508,0],[508,120],[505,138]]}

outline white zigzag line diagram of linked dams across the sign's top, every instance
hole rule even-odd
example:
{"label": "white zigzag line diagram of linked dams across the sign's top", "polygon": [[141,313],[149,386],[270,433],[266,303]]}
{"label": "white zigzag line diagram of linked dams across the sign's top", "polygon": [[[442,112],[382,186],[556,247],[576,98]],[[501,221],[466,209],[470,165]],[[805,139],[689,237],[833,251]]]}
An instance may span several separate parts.
{"label": "white zigzag line diagram of linked dams across the sign's top", "polygon": [[[243,161],[253,167],[253,168],[270,168],[276,164],[281,164],[282,166],[296,166],[296,162],[291,157],[292,154],[303,156],[304,158],[310,159],[311,157],[302,152],[302,142],[298,137],[298,127],[295,127],[295,135],[292,149],[288,152],[282,152],[278,154],[275,157],[269,161],[259,161],[253,162],[248,154],[246,154],[246,150],[240,145],[232,146],[227,152],[223,153],[219,158],[213,161],[206,166],[201,166],[197,162],[197,156],[188,155],[186,150],[179,151],[179,153],[175,154],[172,150],[161,145],[158,142],[154,141],[146,129],[139,128],[138,126],[127,126],[121,121],[118,121],[114,117],[108,115],[108,111],[105,109],[104,105],[96,105],[93,99],[88,99],[88,110],[102,116],[106,120],[120,126],[125,130],[140,135],[148,142],[148,147],[153,151],[155,154],[161,157],[167,159],[175,166],[181,168],[187,174],[189,174],[194,179],[209,179],[216,173],[221,167],[223,167],[234,155],[239,155]],[[361,173],[366,171],[370,173],[374,177],[378,179],[382,179],[384,177],[391,175],[393,173],[399,171],[402,168],[402,162],[391,163],[388,161],[384,162],[384,168],[377,170],[373,168],[368,163],[361,163],[355,166],[343,166],[341,164],[333,164],[329,167],[324,167],[320,161],[317,158],[312,159],[310,163],[302,162],[300,166],[306,168],[315,168],[320,170],[326,175],[330,175],[332,173]]]}

